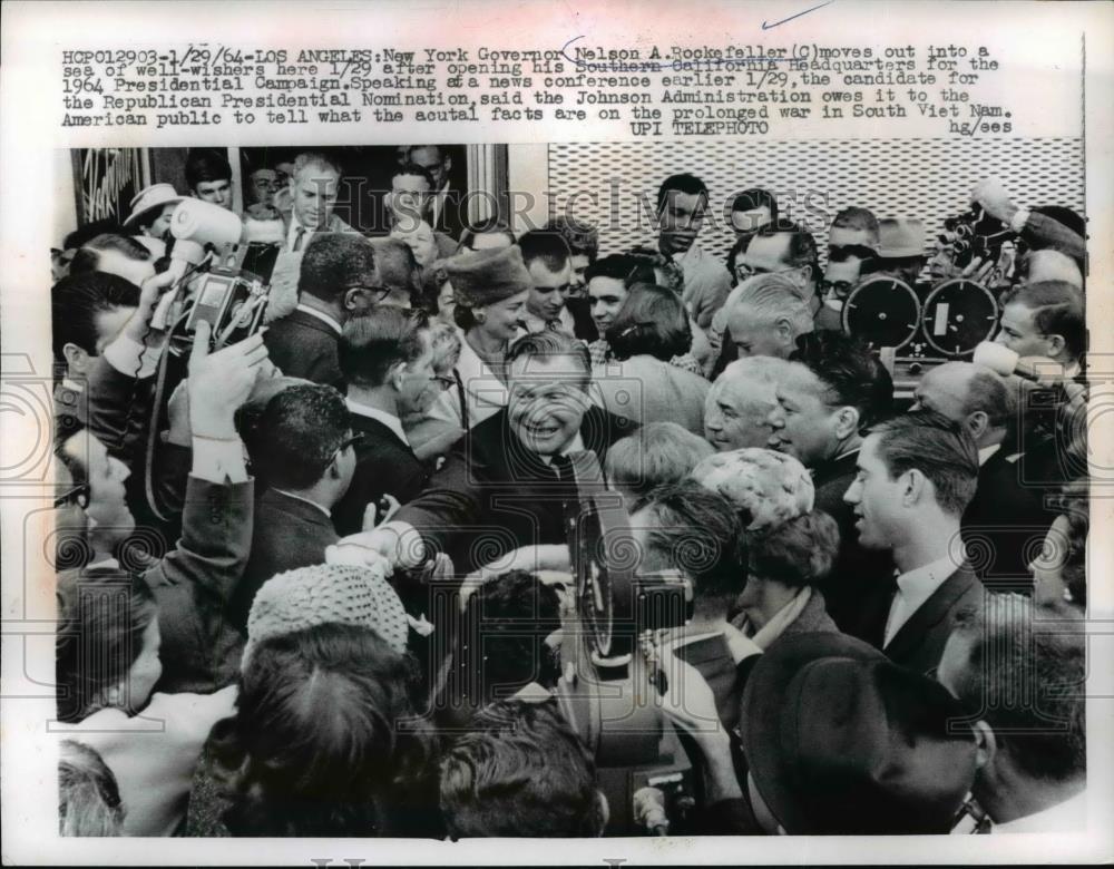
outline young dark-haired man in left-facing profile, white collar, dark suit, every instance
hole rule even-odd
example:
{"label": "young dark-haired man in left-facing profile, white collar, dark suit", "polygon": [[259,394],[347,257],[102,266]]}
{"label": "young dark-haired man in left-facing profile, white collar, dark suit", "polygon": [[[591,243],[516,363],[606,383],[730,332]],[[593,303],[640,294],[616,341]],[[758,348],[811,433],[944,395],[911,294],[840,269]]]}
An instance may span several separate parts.
{"label": "young dark-haired man in left-facing profile, white collar, dark suit", "polygon": [[882,652],[934,675],[958,614],[984,604],[959,536],[975,495],[978,449],[960,426],[918,411],[876,426],[857,466],[843,498],[858,518],[859,541],[889,549],[898,569]]}

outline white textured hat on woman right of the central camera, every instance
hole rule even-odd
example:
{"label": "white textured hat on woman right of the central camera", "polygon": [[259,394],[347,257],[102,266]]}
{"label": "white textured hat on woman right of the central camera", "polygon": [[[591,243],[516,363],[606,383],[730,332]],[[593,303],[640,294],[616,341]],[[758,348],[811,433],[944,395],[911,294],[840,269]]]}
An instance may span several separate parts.
{"label": "white textured hat on woman right of the central camera", "polygon": [[692,477],[727,498],[744,521],[749,517],[749,531],[809,512],[815,497],[812,478],[800,461],[759,447],[709,456],[693,468]]}

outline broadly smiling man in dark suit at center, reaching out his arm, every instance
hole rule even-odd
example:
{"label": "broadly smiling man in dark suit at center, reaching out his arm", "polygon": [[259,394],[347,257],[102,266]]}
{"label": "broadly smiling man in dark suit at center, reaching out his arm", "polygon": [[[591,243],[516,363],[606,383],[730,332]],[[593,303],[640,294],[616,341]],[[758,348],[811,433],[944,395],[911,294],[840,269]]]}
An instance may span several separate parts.
{"label": "broadly smiling man in dark suit at center, reaching out his arm", "polygon": [[590,372],[587,348],[571,335],[520,338],[507,353],[508,406],[469,430],[420,497],[351,543],[401,567],[447,551],[458,574],[512,550],[559,551],[579,512],[573,457],[588,450],[603,467],[633,428],[592,404]]}

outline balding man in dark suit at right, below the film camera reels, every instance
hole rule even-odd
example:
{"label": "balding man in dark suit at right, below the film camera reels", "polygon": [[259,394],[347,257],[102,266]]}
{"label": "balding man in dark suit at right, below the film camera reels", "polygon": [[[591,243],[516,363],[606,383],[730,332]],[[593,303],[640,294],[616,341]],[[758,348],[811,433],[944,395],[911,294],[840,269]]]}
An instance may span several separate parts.
{"label": "balding man in dark suit at right, below the film camera reels", "polygon": [[1030,594],[1032,547],[1055,515],[1044,509],[1042,489],[1024,485],[1012,390],[988,368],[946,362],[925,374],[913,398],[915,409],[942,413],[978,447],[978,485],[960,526],[975,573],[990,588]]}

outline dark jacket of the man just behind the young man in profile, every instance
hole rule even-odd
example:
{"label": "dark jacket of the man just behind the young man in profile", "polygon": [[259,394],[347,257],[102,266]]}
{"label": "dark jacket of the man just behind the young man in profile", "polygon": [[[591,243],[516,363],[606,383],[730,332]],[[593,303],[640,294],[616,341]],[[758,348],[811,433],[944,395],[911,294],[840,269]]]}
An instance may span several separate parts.
{"label": "dark jacket of the man just behind the young man in profile", "polygon": [[867,549],[859,544],[854,512],[843,500],[858,473],[858,450],[849,452],[812,472],[815,508],[836,520],[840,537],[836,564],[819,588],[840,631],[880,648],[896,588],[893,558],[888,550]]}

